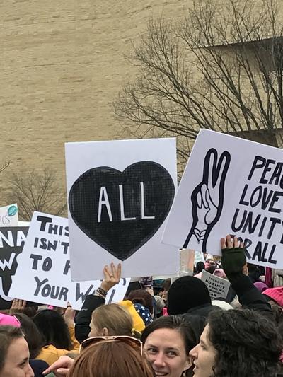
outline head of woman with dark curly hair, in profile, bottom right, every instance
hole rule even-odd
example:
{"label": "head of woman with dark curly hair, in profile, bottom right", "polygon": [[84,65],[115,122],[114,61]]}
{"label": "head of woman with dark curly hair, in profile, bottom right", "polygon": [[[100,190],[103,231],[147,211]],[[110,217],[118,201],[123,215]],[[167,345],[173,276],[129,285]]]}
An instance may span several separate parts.
{"label": "head of woman with dark curly hair, in profile, bottom right", "polygon": [[213,311],[192,349],[195,377],[276,376],[282,340],[275,325],[255,311]]}

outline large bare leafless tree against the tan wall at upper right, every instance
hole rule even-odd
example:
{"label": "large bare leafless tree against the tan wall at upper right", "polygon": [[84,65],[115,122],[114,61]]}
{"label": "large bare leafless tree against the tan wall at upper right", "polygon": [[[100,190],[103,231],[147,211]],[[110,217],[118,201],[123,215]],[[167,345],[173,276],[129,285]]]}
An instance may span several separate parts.
{"label": "large bare leafless tree against the tan wall at upper right", "polygon": [[151,19],[128,57],[136,80],[113,104],[125,132],[178,137],[182,160],[201,128],[257,141],[263,135],[260,141],[277,145],[275,132],[283,127],[278,6],[277,0],[195,0],[178,23]]}

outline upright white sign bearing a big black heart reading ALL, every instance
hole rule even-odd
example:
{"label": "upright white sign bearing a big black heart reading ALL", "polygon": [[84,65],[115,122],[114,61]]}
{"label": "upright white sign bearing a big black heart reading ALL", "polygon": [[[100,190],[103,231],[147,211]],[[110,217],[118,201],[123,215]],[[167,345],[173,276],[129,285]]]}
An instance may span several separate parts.
{"label": "upright white sign bearing a big black heart reading ALL", "polygon": [[177,187],[175,139],[67,143],[71,277],[175,274],[178,249],[161,244]]}

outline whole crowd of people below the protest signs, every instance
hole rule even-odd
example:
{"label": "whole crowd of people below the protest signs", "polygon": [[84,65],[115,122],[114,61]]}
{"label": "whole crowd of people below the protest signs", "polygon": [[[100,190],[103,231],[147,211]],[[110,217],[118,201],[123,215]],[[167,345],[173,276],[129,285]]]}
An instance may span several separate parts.
{"label": "whole crowd of people below the protest signs", "polygon": [[[221,260],[197,263],[195,276],[130,283],[119,303],[106,304],[120,282],[114,264],[81,311],[15,300],[0,314],[0,377],[281,376],[283,286],[246,265],[236,237],[221,238],[221,249]],[[212,301],[203,269],[229,280],[226,300]]]}

